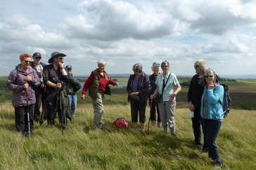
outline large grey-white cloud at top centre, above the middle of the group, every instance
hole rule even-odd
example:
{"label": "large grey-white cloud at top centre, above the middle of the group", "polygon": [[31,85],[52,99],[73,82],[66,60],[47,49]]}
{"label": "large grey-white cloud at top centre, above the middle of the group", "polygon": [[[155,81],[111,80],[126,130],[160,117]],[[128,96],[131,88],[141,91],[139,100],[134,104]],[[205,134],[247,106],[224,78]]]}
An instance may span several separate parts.
{"label": "large grey-white cloud at top centre, above the middle of the group", "polygon": [[80,3],[81,13],[63,24],[69,37],[116,41],[123,38],[160,38],[173,33],[176,20],[157,8],[139,9],[116,0],[88,0]]}

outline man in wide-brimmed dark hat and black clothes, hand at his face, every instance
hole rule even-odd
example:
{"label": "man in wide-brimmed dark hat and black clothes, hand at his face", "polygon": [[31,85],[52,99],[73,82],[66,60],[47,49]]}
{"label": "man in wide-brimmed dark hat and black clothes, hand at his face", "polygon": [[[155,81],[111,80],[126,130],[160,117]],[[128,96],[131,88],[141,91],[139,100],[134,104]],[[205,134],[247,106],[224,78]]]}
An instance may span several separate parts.
{"label": "man in wide-brimmed dark hat and black clothes, hand at his face", "polygon": [[50,126],[54,125],[54,119],[58,113],[62,127],[67,124],[68,97],[66,84],[68,73],[65,71],[63,59],[66,55],[60,52],[51,53],[49,65],[44,68],[43,77],[46,85],[46,99],[44,101],[44,120]]}

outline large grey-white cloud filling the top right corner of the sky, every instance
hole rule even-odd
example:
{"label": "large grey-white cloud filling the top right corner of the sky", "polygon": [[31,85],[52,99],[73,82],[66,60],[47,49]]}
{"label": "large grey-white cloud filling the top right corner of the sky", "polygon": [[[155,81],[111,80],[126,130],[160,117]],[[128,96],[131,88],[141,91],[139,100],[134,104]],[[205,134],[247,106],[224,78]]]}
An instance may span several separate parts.
{"label": "large grey-white cloud filling the top right corner of the sky", "polygon": [[256,3],[239,0],[165,1],[169,13],[190,25],[198,33],[221,35],[236,27],[256,22]]}

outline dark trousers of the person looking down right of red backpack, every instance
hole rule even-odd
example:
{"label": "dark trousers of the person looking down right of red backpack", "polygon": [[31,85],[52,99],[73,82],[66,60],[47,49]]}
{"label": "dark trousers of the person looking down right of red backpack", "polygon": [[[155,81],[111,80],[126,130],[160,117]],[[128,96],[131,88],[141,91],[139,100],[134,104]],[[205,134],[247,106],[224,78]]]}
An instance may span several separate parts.
{"label": "dark trousers of the person looking down right of red backpack", "polygon": [[132,115],[132,122],[138,122],[138,114],[139,114],[139,122],[144,123],[146,121],[146,105],[147,101],[138,101],[131,99],[131,115]]}

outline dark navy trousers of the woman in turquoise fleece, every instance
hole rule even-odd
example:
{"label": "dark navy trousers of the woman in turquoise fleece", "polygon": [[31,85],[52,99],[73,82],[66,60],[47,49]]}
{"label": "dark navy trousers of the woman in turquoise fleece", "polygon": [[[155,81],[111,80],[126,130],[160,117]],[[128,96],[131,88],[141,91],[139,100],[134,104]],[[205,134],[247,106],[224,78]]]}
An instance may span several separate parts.
{"label": "dark navy trousers of the woman in turquoise fleece", "polygon": [[207,141],[208,154],[212,160],[221,162],[219,158],[219,150],[215,143],[219,129],[222,126],[222,122],[218,120],[202,119],[203,132]]}

